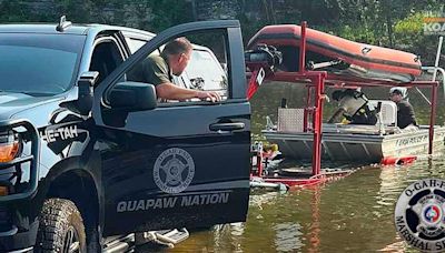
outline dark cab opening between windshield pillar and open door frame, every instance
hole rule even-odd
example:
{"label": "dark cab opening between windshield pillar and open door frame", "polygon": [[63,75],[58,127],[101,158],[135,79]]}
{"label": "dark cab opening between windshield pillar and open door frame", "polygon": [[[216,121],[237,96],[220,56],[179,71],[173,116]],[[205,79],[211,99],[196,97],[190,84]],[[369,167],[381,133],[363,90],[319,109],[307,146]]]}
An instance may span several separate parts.
{"label": "dark cab opening between windshield pillar and open door frame", "polygon": [[108,77],[122,61],[123,57],[116,41],[111,38],[101,39],[95,47],[90,64],[90,71],[99,72],[96,85]]}

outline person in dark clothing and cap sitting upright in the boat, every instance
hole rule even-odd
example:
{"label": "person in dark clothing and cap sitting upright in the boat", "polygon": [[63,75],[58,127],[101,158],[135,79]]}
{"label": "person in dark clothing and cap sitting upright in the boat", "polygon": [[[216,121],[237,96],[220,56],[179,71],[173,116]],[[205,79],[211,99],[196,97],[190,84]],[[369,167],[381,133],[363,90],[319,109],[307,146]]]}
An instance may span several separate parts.
{"label": "person in dark clothing and cap sitting upright in the boat", "polygon": [[407,89],[393,87],[389,90],[389,99],[397,104],[397,126],[404,130],[416,130],[417,121],[413,105],[407,100]]}

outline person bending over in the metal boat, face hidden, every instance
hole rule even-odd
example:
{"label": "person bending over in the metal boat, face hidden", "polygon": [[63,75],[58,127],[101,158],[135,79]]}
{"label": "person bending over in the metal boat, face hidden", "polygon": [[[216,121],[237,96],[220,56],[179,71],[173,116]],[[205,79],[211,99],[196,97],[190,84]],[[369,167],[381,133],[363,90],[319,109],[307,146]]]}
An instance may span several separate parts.
{"label": "person bending over in the metal boat, face hidden", "polygon": [[352,124],[374,125],[377,123],[375,108],[368,103],[368,99],[362,91],[337,90],[333,92],[333,99],[338,101],[338,109],[328,123],[340,122],[342,117]]}

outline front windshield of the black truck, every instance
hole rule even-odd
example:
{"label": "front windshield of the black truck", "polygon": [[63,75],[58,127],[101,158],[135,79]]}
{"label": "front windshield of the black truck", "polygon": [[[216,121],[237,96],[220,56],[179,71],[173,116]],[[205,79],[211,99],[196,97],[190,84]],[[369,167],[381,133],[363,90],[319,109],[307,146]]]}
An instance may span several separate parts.
{"label": "front windshield of the black truck", "polygon": [[0,92],[53,95],[76,79],[85,36],[0,33]]}

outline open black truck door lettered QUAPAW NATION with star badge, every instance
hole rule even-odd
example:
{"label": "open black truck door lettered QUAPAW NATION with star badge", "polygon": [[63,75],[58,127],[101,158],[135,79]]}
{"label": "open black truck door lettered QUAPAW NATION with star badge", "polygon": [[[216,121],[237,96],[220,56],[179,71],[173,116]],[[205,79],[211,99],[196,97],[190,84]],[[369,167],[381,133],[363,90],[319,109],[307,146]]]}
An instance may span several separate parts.
{"label": "open black truck door lettered QUAPAW NATION with star badge", "polygon": [[[215,54],[228,67],[221,102],[160,103],[154,85],[129,80],[147,55],[178,37],[220,44]],[[159,33],[96,88],[92,119],[102,160],[103,235],[245,221],[250,105],[238,21]]]}

